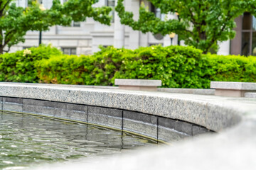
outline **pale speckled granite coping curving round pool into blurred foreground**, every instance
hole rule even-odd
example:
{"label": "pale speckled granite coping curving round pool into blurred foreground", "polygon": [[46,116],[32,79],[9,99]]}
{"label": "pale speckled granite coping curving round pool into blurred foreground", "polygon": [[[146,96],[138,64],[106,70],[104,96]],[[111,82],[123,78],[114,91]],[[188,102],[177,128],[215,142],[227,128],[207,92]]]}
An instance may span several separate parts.
{"label": "pale speckled granite coping curving round pool into blurred foreground", "polygon": [[[122,108],[196,123],[216,135],[174,143],[172,147],[136,150],[110,159],[48,165],[39,169],[255,169],[256,99],[169,94],[163,92],[85,89],[0,83],[0,96],[83,103]],[[95,163],[96,162],[96,163]],[[33,169],[36,169],[33,167]]]}

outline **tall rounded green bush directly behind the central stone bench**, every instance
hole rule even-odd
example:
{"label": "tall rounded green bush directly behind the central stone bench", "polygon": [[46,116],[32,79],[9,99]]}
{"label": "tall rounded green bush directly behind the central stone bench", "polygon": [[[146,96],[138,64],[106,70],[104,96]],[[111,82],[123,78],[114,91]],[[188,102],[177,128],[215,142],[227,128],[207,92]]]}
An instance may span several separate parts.
{"label": "tall rounded green bush directly behind the central stone bench", "polygon": [[206,57],[193,47],[140,47],[132,57],[123,58],[114,79],[161,79],[164,87],[206,88],[206,67]]}

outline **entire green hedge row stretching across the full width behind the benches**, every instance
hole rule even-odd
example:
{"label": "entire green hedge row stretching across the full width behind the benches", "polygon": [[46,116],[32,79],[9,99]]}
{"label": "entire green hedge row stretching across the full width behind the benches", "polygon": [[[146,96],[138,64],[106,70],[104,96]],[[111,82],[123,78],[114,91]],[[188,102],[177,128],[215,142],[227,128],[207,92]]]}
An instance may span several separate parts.
{"label": "entire green hedge row stretching across the full width behind the benches", "polygon": [[[203,55],[193,47],[101,47],[94,55],[80,57],[51,47],[31,52],[26,57],[23,51],[1,55],[5,64],[0,63],[0,81],[111,86],[114,79],[161,79],[164,87],[176,88],[209,88],[210,81],[256,81],[256,57]],[[22,67],[16,57],[23,59]],[[27,63],[29,69],[24,67]],[[2,70],[9,70],[8,75]]]}

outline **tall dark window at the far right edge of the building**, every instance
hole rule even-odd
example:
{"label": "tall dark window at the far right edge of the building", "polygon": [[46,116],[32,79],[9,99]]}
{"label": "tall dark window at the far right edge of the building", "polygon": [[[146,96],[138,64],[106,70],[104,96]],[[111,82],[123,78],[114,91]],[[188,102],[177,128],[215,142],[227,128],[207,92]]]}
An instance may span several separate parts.
{"label": "tall dark window at the far right edge of the building", "polygon": [[256,18],[250,13],[244,13],[242,17],[241,55],[256,55]]}

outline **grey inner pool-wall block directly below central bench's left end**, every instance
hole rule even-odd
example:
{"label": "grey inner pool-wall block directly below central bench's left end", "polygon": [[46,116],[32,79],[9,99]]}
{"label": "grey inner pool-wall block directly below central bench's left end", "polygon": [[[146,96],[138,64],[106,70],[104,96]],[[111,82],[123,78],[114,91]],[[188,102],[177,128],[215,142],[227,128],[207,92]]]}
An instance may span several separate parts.
{"label": "grey inner pool-wall block directly below central bench's left end", "polygon": [[105,125],[122,130],[122,111],[113,108],[88,106],[88,123]]}

